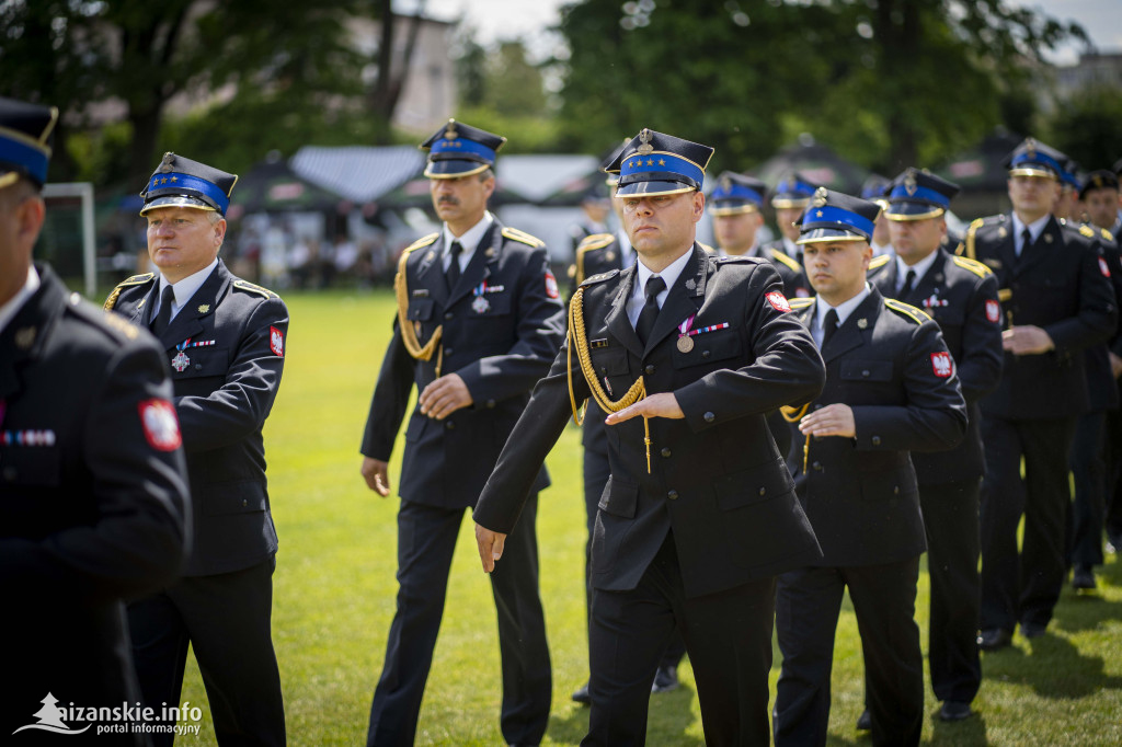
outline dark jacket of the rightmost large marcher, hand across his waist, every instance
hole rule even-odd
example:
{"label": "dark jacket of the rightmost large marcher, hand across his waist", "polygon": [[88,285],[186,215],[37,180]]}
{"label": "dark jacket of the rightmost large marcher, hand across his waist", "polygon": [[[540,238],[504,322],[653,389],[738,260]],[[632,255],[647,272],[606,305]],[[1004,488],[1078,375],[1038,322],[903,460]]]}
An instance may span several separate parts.
{"label": "dark jacket of the rightmost large marcher, hand across his waist", "polygon": [[1005,353],[986,415],[1011,419],[1074,417],[1087,407],[1084,349],[1114,333],[1118,307],[1094,232],[1049,218],[1021,257],[1010,215],[980,218],[966,231],[967,257],[997,276],[1005,322],[1042,328],[1056,349],[1039,356]]}

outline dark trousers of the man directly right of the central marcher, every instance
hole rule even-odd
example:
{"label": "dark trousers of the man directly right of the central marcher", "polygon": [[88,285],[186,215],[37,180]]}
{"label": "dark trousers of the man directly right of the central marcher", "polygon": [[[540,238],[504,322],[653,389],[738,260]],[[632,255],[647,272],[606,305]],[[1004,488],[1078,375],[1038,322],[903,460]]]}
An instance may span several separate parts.
{"label": "dark trousers of the man directly right of the central marcher", "polygon": [[775,628],[783,667],[775,692],[776,745],[825,745],[834,638],[846,587],[865,658],[874,745],[918,745],[923,728],[923,653],[916,625],[919,555],[894,563],[783,573]]}

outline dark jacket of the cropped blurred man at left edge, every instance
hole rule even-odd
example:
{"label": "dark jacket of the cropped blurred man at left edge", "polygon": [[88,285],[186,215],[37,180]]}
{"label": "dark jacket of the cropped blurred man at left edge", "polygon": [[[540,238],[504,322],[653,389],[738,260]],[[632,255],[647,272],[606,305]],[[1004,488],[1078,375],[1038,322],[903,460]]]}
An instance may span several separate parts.
{"label": "dark jacket of the cropped blurred man at left edge", "polygon": [[[171,581],[188,532],[155,341],[36,269],[42,285],[0,332],[4,735],[36,723],[48,691],[83,707],[136,701],[121,599]],[[154,402],[167,414],[146,425]]]}

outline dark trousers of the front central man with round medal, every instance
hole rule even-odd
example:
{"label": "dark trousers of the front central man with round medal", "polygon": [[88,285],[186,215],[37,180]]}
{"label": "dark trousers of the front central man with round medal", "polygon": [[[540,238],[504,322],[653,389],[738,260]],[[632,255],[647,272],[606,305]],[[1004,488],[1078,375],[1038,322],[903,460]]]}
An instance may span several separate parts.
{"label": "dark trousers of the front central man with round medal", "polygon": [[767,745],[774,591],[769,577],[687,598],[672,534],[634,589],[594,590],[592,707],[581,745],[645,744],[651,681],[675,630],[693,665],[706,745]]}

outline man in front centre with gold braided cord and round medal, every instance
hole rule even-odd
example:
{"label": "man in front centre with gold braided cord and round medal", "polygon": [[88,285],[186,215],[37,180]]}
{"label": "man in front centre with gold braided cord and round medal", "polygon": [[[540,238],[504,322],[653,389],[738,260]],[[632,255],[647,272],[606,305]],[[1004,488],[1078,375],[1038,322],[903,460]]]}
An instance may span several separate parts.
{"label": "man in front centre with gold braided cord and round medal", "polygon": [[644,129],[605,165],[619,174],[640,261],[588,278],[570,302],[569,340],[475,511],[484,570],[517,563],[508,548],[524,498],[569,416],[589,397],[611,413],[586,745],[644,743],[651,680],[675,630],[706,741],[767,744],[774,574],[818,555],[764,413],[815,396],[821,360],[770,262],[696,242],[711,155]]}

